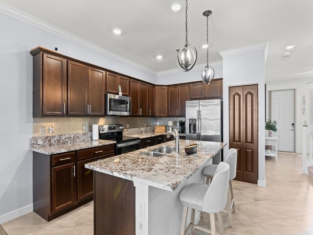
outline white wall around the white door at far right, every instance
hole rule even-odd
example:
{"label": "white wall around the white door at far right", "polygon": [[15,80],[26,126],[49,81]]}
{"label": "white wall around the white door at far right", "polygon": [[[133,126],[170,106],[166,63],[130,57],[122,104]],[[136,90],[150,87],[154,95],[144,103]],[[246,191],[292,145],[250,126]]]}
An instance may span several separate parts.
{"label": "white wall around the white door at far right", "polygon": [[[267,83],[267,93],[266,93],[266,109],[267,109],[267,118],[270,118],[269,116],[269,110],[270,110],[270,100],[269,100],[269,92],[270,91],[281,91],[281,90],[291,90],[295,89],[295,120],[294,120],[294,131],[295,131],[295,152],[296,153],[302,153],[302,126],[304,124],[304,121],[307,121],[308,125],[312,125],[310,121],[310,112],[311,112],[311,100],[310,100],[310,90],[312,90],[312,86],[309,87],[308,84],[305,84],[309,81],[294,81],[294,82],[281,82],[281,83]],[[306,114],[302,115],[301,112],[301,100],[302,96],[305,95],[306,99]]]}

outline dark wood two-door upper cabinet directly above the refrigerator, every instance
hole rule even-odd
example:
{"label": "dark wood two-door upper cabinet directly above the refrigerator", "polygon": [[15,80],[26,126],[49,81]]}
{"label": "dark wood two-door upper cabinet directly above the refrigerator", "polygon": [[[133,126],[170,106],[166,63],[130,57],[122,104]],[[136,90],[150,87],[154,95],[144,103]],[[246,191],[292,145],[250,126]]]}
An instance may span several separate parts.
{"label": "dark wood two-door upper cabinet directly above the refrigerator", "polygon": [[190,99],[220,99],[223,98],[223,79],[214,79],[210,84],[192,83],[189,89]]}

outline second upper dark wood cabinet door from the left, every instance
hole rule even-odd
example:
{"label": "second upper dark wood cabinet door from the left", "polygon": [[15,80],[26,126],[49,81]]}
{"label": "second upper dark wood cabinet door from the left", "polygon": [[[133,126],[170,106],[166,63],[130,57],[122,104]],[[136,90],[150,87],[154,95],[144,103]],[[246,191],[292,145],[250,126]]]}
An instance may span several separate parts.
{"label": "second upper dark wood cabinet door from the left", "polygon": [[68,61],[67,115],[88,114],[88,66]]}

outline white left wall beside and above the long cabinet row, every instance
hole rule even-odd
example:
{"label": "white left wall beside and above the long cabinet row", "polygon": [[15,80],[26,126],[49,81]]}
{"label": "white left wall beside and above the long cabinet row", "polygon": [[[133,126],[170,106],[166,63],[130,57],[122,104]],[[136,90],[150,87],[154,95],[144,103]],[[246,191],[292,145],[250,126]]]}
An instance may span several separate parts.
{"label": "white left wall beside and above the long cabinet row", "polygon": [[0,13],[0,223],[32,211],[32,56],[29,50],[58,52],[156,83],[156,75],[126,65],[62,37]]}

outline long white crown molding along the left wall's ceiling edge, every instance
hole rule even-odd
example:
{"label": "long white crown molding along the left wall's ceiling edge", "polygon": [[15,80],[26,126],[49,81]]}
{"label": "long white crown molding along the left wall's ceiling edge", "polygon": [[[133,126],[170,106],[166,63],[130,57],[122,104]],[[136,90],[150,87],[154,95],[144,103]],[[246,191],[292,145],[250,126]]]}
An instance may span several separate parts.
{"label": "long white crown molding along the left wall's ceiling edge", "polygon": [[155,76],[157,75],[156,71],[153,71],[147,67],[144,67],[144,66],[142,66],[142,65],[140,65],[140,64],[138,64],[132,60],[126,59],[125,57],[122,57],[118,54],[115,54],[112,51],[107,50],[103,47],[99,47],[93,43],[90,43],[89,41],[87,41],[85,39],[82,39],[78,36],[75,36],[75,35],[67,32],[65,30],[58,28],[58,27],[55,27],[52,24],[48,24],[45,21],[42,21],[36,17],[33,17],[33,16],[31,16],[25,12],[22,12],[22,11],[20,11],[14,7],[11,7],[11,6],[3,3],[3,2],[0,2],[0,13],[3,13],[7,16],[15,18],[19,21],[26,23],[26,24],[30,24],[32,26],[35,26],[35,27],[40,28],[42,30],[45,30],[46,32],[52,33],[56,36],[59,36],[61,38],[66,39],[72,43],[75,43],[75,44],[80,45],[82,47],[86,47],[90,50],[98,52],[102,55],[110,57],[114,60],[117,60],[117,61],[122,62],[124,64],[127,64],[129,66],[132,66],[132,67],[139,69],[141,71],[148,72],[148,73],[155,75]]}

